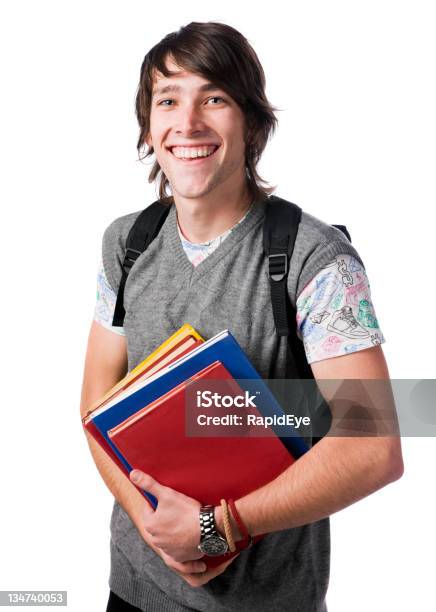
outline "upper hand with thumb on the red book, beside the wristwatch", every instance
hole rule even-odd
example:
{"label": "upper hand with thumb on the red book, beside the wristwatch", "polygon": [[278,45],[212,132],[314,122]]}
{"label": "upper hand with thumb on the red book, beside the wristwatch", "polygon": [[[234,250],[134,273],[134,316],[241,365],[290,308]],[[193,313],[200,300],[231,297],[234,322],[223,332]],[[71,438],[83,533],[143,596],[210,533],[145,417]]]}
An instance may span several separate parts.
{"label": "upper hand with thumb on the red book, beside the wristwatch", "polygon": [[198,550],[200,502],[160,484],[140,470],[130,472],[130,478],[141,489],[157,497],[159,502],[154,512],[143,514],[147,540],[173,563],[201,559],[203,553]]}

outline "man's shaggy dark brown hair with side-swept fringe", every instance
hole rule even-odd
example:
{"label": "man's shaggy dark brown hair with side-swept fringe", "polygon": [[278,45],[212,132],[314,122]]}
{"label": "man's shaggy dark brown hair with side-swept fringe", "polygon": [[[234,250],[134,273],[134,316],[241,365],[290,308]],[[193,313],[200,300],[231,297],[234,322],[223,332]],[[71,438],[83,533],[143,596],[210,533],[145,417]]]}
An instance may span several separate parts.
{"label": "man's shaggy dark brown hair with side-swept fringe", "polygon": [[[165,62],[168,57],[189,72],[193,72],[223,89],[243,111],[246,119],[245,168],[251,196],[265,197],[271,187],[257,173],[256,166],[274,133],[277,117],[265,94],[265,74],[259,59],[240,32],[218,22],[192,22],[177,32],[167,34],[145,56],[136,94],[136,116],[140,126],[137,143],[139,159],[153,154],[153,147],[141,157],[150,130],[150,108],[155,71],[171,76]],[[148,182],[160,176],[159,198],[171,199],[167,193],[168,179],[157,160]]]}

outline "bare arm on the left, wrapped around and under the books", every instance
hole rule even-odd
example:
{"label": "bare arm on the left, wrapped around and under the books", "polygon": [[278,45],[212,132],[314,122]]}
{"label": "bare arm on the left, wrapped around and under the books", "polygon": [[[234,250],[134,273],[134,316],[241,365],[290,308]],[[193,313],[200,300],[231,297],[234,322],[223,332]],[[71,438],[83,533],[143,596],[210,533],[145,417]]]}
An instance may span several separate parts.
{"label": "bare arm on the left, wrapped around and under the books", "polygon": [[[93,321],[88,339],[85,359],[80,414],[83,417],[88,407],[113,387],[127,372],[127,348],[125,336],[106,329]],[[88,445],[101,477],[107,487],[124,508],[145,542],[178,573],[203,571],[204,563],[190,561],[178,563],[154,546],[144,528],[144,516],[153,514],[144,497],[123,474],[87,432]]]}

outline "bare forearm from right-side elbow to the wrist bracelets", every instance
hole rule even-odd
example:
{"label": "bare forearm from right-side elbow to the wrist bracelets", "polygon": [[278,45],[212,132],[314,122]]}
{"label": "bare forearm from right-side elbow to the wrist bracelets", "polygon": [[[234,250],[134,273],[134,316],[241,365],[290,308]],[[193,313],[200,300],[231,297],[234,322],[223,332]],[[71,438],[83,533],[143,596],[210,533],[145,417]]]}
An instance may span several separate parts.
{"label": "bare forearm from right-side elbow to the wrist bracelets", "polygon": [[401,473],[397,438],[324,438],[236,505],[252,536],[280,531],[330,516]]}

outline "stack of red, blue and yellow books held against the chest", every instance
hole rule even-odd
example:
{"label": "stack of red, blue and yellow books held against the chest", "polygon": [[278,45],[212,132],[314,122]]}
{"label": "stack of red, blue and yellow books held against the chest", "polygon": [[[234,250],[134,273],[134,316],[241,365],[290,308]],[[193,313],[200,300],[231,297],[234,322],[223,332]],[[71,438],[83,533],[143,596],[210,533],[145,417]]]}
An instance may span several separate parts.
{"label": "stack of red, blue and yellow books held against the chest", "polygon": [[[217,384],[222,397],[249,394],[250,406],[255,398],[250,414],[274,421],[285,414],[228,330],[205,341],[186,324],[95,402],[83,426],[127,477],[133,469],[142,470],[202,504],[236,500],[276,478],[308,447],[290,425],[277,430],[271,425],[264,428],[267,435],[253,435],[244,408],[230,411],[239,412],[239,424],[199,426],[196,415],[206,421],[206,416],[229,413],[223,406],[197,406],[198,389]],[[138,490],[155,509],[158,500]],[[212,567],[231,556],[204,560]]]}

